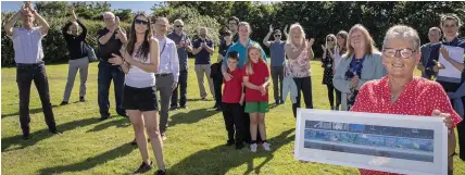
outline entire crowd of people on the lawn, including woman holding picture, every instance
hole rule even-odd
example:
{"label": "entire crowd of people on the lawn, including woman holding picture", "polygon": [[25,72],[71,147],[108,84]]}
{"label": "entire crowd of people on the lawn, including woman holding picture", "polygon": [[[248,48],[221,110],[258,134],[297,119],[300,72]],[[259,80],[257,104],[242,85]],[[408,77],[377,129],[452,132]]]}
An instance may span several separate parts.
{"label": "entire crowd of people on the lawn, including woman holding picture", "polygon": [[[242,149],[244,143],[249,143],[250,150],[256,152],[261,145],[264,150],[272,150],[266,140],[265,126],[271,84],[275,104],[285,103],[290,93],[294,117],[297,109],[301,108],[302,96],[305,108],[313,109],[310,61],[315,58],[315,39],[305,38],[304,28],[299,23],[290,25],[289,32],[287,26],[282,32],[269,26],[269,33],[263,39],[263,45],[271,51],[268,60],[261,45],[250,38],[250,24],[232,16],[228,20],[228,29],[222,34],[217,61],[212,64],[215,43],[208,37],[206,27],[199,27],[198,37],[191,40],[184,32],[181,20],[175,20],[173,32],[169,32],[172,24],[166,17],[137,13],[130,30],[126,32],[120,27],[120,20],[112,12],[104,12],[102,16],[105,26],[91,34],[97,35],[99,42],[100,120],[110,117],[109,89],[113,80],[116,113],[130,120],[135,132],[131,143],[139,147],[142,158],[135,173],[144,173],[154,167],[147,140],[155,154],[159,168],[155,174],[166,173],[163,141],[167,138],[169,110],[188,109],[189,52],[194,55],[200,98],[208,98],[204,87],[206,77],[215,100],[214,108],[223,111],[227,146],[235,145],[236,149]],[[22,26],[15,27],[20,18]],[[461,25],[456,15],[444,15],[439,27],[429,30],[430,42],[424,46],[420,46],[415,29],[395,25],[386,33],[381,50],[375,47],[369,32],[361,24],[354,25],[349,33],[340,30],[337,35],[328,34],[322,46],[322,83],[327,86],[330,109],[444,117],[444,124],[450,129],[448,155],[449,173],[452,174],[455,126],[461,152],[465,152],[465,124],[460,123],[465,108],[464,63],[457,61],[461,58],[449,54],[451,47],[462,48],[462,51],[465,49],[465,39],[458,37]],[[41,43],[49,24],[30,2],[25,2],[7,22],[4,29],[13,40],[24,139],[32,137],[28,104],[33,80],[49,130],[61,134],[50,103]],[[87,29],[73,12],[62,32],[71,59],[61,104],[68,104],[77,71],[80,75],[79,101],[85,102],[89,66],[89,53],[85,49]],[[282,34],[287,40],[281,40]],[[272,35],[274,40],[269,40]],[[443,60],[452,66],[444,66]],[[424,78],[414,76],[415,68],[422,71]],[[461,77],[439,74],[450,68],[460,71]],[[465,160],[465,154],[460,158]],[[360,172],[363,175],[390,174],[369,170]]]}

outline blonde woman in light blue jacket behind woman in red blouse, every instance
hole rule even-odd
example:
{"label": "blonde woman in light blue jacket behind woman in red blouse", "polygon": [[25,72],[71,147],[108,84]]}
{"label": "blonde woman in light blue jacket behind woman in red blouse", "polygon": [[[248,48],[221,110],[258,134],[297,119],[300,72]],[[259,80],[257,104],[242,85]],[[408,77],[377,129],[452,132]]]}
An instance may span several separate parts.
{"label": "blonde woman in light blue jacket behind woman in red blouse", "polygon": [[363,25],[356,24],[350,29],[347,48],[332,78],[334,86],[342,93],[342,111],[351,109],[363,84],[386,75],[381,53]]}

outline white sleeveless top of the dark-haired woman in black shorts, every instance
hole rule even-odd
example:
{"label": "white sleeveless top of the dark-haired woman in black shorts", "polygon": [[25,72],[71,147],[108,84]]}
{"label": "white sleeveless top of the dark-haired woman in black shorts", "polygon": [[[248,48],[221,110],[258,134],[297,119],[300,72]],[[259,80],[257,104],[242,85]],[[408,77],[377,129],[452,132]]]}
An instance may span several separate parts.
{"label": "white sleeveless top of the dark-haired woman in black shorts", "polygon": [[[134,52],[131,57],[134,60],[150,63],[150,53],[146,61],[141,58],[137,58],[136,52]],[[155,74],[140,70],[138,66],[130,65],[129,72],[126,74],[125,84],[135,88],[153,87],[155,86]]]}

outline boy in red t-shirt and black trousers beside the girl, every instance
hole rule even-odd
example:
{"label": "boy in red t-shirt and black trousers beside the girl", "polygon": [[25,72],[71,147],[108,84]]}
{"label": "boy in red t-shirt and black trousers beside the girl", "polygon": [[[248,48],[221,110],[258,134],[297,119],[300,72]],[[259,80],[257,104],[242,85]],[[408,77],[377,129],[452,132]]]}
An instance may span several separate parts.
{"label": "boy in red t-shirt and black trousers beside the girl", "polygon": [[[242,72],[238,68],[239,54],[237,52],[228,53],[228,70],[227,72],[231,75],[231,79],[226,82],[223,91],[223,116],[225,120],[226,130],[228,132],[227,146],[232,146],[236,142],[236,149],[243,148],[243,100],[244,93],[242,90]],[[236,128],[236,140],[235,140],[235,128]]]}

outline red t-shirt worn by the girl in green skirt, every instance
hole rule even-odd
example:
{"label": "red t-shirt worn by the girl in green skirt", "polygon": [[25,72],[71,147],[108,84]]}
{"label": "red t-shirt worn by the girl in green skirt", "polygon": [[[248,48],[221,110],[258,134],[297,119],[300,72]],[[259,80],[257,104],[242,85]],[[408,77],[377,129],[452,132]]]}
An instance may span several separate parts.
{"label": "red t-shirt worn by the girl in green skirt", "polygon": [[[249,82],[255,86],[261,86],[263,83],[265,83],[265,78],[269,77],[268,65],[264,61],[252,63],[252,70],[253,70],[252,75],[248,75],[246,73],[246,70],[247,70],[247,66],[243,65],[242,75],[249,76]],[[263,102],[263,101],[268,101],[268,90],[266,90],[266,93],[262,96],[262,92],[260,92],[260,90],[254,90],[246,87],[246,102]]]}

